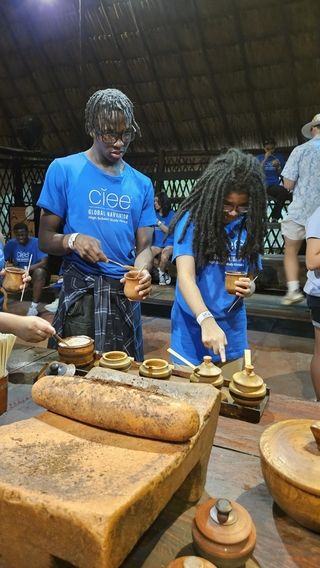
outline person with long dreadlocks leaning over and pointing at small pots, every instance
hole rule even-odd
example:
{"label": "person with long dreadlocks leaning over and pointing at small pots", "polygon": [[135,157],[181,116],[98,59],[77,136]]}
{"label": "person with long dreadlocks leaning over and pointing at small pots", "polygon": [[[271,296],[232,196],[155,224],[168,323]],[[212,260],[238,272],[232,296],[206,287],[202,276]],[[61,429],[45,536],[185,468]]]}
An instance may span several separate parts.
{"label": "person with long dreadlocks leaning over and pointing at small pots", "polygon": [[239,301],[230,309],[235,297],[225,290],[225,272],[259,270],[265,222],[261,166],[236,149],[209,164],[173,220],[178,281],[171,347],[195,365],[204,355],[241,361],[247,347],[242,298],[254,292],[254,283],[236,281]]}

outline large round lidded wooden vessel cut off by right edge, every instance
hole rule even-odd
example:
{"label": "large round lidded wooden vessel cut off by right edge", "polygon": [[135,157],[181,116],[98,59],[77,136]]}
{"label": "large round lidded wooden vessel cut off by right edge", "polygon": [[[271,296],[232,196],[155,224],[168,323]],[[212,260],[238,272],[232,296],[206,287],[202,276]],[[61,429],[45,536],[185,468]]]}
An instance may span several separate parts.
{"label": "large round lidded wooden vessel cut off by right edge", "polygon": [[[320,422],[282,420],[260,438],[261,468],[274,501],[320,533]],[[315,435],[315,437],[314,437]]]}

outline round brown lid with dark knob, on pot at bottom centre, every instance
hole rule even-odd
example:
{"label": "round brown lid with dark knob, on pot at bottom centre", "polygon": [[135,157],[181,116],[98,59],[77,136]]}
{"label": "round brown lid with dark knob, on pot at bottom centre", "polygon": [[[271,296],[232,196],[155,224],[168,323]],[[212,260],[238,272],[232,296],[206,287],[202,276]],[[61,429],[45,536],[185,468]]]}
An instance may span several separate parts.
{"label": "round brown lid with dark knob, on pot at bottom centre", "polygon": [[248,511],[228,499],[209,499],[197,508],[194,520],[207,539],[225,545],[244,541],[253,527]]}

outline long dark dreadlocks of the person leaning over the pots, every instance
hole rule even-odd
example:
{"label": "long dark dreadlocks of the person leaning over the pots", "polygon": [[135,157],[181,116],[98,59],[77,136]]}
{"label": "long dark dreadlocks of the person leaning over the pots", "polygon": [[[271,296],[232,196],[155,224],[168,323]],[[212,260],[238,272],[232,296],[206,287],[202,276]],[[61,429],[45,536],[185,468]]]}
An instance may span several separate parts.
{"label": "long dark dreadlocks of the person leaning over the pots", "polygon": [[[197,180],[192,193],[182,202],[170,225],[170,233],[181,217],[189,212],[179,242],[194,223],[193,250],[196,267],[210,261],[225,264],[230,255],[230,240],[225,231],[223,205],[230,193],[248,195],[248,213],[244,215],[236,249],[239,258],[245,258],[258,267],[258,256],[263,253],[266,228],[266,190],[264,175],[258,160],[251,154],[231,148],[213,159]],[[247,238],[240,249],[242,228]]]}

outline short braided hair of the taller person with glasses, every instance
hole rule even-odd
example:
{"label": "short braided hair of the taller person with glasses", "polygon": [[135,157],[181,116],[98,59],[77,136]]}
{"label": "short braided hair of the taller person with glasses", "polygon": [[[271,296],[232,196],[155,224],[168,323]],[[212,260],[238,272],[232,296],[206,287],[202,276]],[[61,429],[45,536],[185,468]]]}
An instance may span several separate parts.
{"label": "short braided hair of the taller person with glasses", "polygon": [[91,95],[85,108],[86,133],[92,136],[94,132],[102,131],[115,112],[122,112],[126,127],[133,126],[140,135],[140,127],[134,118],[133,103],[118,89],[104,89]]}

